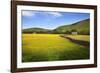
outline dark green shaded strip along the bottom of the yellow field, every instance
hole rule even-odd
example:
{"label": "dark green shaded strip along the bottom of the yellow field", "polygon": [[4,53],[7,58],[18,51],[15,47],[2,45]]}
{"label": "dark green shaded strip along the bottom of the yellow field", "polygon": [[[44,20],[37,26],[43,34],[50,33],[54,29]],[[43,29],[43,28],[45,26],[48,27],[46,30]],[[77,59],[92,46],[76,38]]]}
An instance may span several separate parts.
{"label": "dark green shaded strip along the bottom of the yellow field", "polygon": [[75,48],[75,50],[64,49],[61,52],[48,51],[47,53],[24,53],[22,62],[64,61],[89,59],[88,48]]}

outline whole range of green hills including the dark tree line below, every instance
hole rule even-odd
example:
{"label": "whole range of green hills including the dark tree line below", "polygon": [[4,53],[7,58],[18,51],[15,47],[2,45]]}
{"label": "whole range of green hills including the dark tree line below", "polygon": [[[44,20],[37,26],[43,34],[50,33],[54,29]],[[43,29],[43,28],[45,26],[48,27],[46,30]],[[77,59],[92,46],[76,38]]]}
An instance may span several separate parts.
{"label": "whole range of green hills including the dark tree line below", "polygon": [[82,20],[70,25],[59,26],[54,30],[44,29],[44,28],[28,28],[23,29],[23,33],[61,33],[61,34],[71,34],[71,32],[78,32],[78,34],[89,34],[90,30],[90,20]]}

